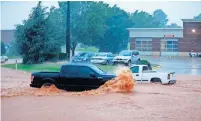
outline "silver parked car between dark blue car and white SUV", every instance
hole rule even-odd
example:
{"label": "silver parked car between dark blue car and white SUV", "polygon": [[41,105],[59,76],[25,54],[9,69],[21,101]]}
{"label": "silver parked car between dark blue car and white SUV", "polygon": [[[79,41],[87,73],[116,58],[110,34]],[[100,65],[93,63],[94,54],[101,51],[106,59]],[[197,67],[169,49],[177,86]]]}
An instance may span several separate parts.
{"label": "silver parked car between dark blue car and white SUV", "polygon": [[93,56],[91,58],[91,63],[109,65],[109,64],[112,64],[113,58],[114,58],[114,55],[111,52],[109,53],[101,52],[101,53],[97,53],[96,56]]}

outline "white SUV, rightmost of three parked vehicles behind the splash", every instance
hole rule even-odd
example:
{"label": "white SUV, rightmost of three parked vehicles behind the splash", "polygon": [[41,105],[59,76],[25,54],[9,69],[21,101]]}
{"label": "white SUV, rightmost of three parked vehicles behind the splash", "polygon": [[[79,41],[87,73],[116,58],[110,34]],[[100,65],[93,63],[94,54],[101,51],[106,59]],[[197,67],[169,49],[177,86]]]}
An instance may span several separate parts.
{"label": "white SUV, rightmost of three parked vehicles behind the splash", "polygon": [[134,63],[140,61],[140,55],[137,50],[123,50],[118,56],[114,57],[113,65],[124,64],[131,66]]}

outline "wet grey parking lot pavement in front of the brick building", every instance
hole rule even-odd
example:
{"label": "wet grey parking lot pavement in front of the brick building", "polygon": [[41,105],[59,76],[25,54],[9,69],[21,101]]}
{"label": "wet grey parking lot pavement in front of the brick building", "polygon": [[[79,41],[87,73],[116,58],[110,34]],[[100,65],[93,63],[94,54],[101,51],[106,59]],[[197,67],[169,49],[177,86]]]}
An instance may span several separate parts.
{"label": "wet grey parking lot pavement in front of the brick building", "polygon": [[141,59],[148,60],[152,64],[161,65],[161,68],[157,69],[157,71],[176,72],[176,74],[201,75],[201,58],[146,56]]}

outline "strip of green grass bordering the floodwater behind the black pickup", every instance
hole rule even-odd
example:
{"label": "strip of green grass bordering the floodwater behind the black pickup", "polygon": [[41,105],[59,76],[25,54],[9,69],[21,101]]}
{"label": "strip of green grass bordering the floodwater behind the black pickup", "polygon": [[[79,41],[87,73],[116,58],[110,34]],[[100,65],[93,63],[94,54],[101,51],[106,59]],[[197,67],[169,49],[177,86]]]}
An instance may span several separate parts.
{"label": "strip of green grass bordering the floodwater behind the black pickup", "polygon": [[[1,65],[5,68],[15,69],[15,64],[5,64]],[[37,72],[37,71],[53,71],[58,72],[60,71],[61,64],[18,64],[18,70],[23,70],[26,72]],[[114,66],[106,66],[106,65],[98,65],[102,70],[106,72],[112,72],[114,70]]]}

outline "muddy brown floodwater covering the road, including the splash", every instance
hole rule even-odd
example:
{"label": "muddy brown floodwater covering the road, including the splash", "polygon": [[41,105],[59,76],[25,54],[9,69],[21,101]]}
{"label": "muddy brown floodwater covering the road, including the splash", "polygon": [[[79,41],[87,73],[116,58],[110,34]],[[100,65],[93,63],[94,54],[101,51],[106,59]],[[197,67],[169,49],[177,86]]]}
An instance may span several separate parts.
{"label": "muddy brown floodwater covering the road, including the splash", "polygon": [[135,84],[129,70],[96,90],[30,88],[30,74],[1,68],[2,121],[201,121],[201,75],[174,85]]}

